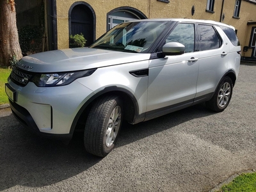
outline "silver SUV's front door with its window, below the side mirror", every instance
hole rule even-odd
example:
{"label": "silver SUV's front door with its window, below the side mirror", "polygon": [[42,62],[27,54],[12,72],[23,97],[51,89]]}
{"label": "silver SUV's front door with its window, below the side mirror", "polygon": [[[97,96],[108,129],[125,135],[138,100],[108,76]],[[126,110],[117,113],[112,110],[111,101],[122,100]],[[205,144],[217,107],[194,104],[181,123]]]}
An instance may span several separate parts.
{"label": "silver SUV's front door with its window, below the side mirror", "polygon": [[168,42],[185,45],[185,53],[150,60],[146,119],[150,114],[156,117],[180,106],[189,106],[195,98],[199,65],[199,52],[195,52],[195,24],[177,24],[166,38],[165,43]]}

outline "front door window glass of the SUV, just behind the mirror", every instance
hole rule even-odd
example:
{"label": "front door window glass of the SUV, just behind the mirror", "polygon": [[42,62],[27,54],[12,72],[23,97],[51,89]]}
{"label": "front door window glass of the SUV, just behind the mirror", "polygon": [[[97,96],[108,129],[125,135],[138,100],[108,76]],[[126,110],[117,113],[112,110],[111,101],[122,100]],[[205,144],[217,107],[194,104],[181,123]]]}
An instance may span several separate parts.
{"label": "front door window glass of the SUV, just behind the mirror", "polygon": [[166,38],[166,43],[178,42],[185,45],[185,52],[194,52],[195,49],[195,25],[181,23]]}

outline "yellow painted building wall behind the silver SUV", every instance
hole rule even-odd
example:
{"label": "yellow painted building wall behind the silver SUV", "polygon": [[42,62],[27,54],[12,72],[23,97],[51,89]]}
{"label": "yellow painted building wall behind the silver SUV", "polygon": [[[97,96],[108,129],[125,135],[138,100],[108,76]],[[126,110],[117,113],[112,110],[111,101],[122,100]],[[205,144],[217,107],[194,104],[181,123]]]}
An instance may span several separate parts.
{"label": "yellow painted building wall behind the silver SUV", "polygon": [[[74,0],[58,0],[57,1],[57,30],[58,30],[58,49],[68,48],[68,10]],[[183,1],[170,0],[170,3],[163,3],[157,0],[85,0],[84,2],[92,6],[96,15],[96,39],[106,32],[106,17],[111,10],[129,6],[140,10],[148,19],[153,18],[190,18],[190,19],[210,19],[220,21],[221,17],[221,0],[214,3],[214,13],[205,12],[207,0],[199,1]],[[248,26],[249,20],[256,21],[256,4],[242,1],[239,14],[240,19],[234,19],[235,0],[225,0],[223,13],[225,19],[221,22],[230,24],[237,29],[237,36],[240,40],[241,47],[248,45],[252,26]],[[195,14],[191,15],[191,8],[195,6]],[[245,52],[244,56],[248,56],[250,52]]]}

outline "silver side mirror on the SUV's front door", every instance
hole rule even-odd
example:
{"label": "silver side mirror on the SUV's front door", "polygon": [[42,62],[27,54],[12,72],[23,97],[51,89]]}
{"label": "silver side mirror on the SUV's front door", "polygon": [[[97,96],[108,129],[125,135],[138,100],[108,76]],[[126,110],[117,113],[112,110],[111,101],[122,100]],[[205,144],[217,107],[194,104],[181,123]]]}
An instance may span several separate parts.
{"label": "silver side mirror on the SUV's front door", "polygon": [[185,45],[180,44],[178,42],[170,42],[163,45],[163,54],[166,55],[179,55],[184,54]]}

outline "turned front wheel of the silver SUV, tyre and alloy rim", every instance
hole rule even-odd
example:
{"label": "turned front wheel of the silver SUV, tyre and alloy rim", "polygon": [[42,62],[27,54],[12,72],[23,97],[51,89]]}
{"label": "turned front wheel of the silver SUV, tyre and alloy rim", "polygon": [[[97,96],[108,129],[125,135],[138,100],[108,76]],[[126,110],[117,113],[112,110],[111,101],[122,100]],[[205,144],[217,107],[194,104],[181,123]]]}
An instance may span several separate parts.
{"label": "turned front wheel of the silver SUV, tyre and alloy rim", "polygon": [[120,132],[123,105],[120,97],[100,97],[89,112],[84,127],[84,147],[87,152],[105,157],[113,150]]}

